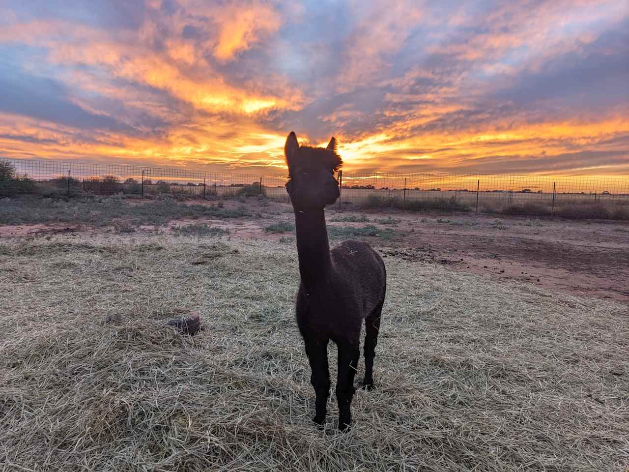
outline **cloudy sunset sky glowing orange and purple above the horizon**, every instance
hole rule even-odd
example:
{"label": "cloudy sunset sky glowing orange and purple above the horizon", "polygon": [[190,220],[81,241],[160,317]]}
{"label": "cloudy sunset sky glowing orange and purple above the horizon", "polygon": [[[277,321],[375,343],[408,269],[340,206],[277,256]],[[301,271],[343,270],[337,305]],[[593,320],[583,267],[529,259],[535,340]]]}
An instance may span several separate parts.
{"label": "cloudy sunset sky glowing orange and purple above the horizon", "polygon": [[0,157],[629,176],[629,2],[0,3]]}

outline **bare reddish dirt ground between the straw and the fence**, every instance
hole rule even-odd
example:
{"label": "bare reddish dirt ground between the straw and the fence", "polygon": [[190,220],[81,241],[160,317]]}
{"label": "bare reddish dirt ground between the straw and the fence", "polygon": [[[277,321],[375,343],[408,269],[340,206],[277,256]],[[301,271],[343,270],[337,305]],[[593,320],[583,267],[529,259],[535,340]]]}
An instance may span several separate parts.
{"label": "bare reddish dirt ground between the straw and the fence", "polygon": [[[129,202],[138,205],[137,201]],[[216,202],[187,200],[188,204]],[[286,240],[291,232],[265,230],[274,223],[293,222],[288,203],[248,198],[225,201],[225,208],[247,208],[251,216],[172,220],[167,227],[141,225],[140,233],[170,232],[173,227],[207,224],[228,230],[228,238]],[[399,210],[375,212],[347,206],[326,210],[328,225],[373,225],[387,237],[366,237],[385,248],[385,257],[431,260],[453,271],[484,274],[499,280],[532,283],[551,291],[609,298],[629,303],[629,224],[609,220],[560,220],[495,215],[419,214]],[[368,221],[352,222],[367,218]],[[1,237],[33,237],[58,233],[113,231],[89,225],[4,225]],[[335,241],[332,242],[335,244]]]}

